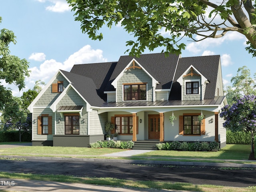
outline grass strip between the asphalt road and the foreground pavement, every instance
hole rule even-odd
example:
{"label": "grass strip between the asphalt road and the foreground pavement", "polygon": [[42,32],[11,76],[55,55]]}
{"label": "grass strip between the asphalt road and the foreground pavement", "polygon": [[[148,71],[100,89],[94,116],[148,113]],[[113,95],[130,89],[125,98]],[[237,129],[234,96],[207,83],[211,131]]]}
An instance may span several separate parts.
{"label": "grass strip between the asphalt road and the foreground pavement", "polygon": [[50,182],[69,182],[82,184],[97,184],[106,186],[117,186],[125,188],[151,188],[151,189],[167,189],[167,190],[188,190],[200,192],[253,192],[255,187],[237,188],[215,185],[194,185],[191,183],[171,183],[171,182],[154,182],[154,181],[132,181],[116,178],[78,178],[65,175],[40,175],[40,174],[24,174],[24,173],[8,173],[0,172],[0,178],[25,179],[25,180],[41,180]]}

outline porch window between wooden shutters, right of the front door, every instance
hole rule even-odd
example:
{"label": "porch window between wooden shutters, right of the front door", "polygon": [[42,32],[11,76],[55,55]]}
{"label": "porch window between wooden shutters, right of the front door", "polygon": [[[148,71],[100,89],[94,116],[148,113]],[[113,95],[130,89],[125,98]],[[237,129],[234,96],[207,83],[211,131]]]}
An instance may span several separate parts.
{"label": "porch window between wooden shutters, right of the front door", "polygon": [[198,120],[198,116],[184,116],[183,122],[184,134],[200,134],[201,124]]}

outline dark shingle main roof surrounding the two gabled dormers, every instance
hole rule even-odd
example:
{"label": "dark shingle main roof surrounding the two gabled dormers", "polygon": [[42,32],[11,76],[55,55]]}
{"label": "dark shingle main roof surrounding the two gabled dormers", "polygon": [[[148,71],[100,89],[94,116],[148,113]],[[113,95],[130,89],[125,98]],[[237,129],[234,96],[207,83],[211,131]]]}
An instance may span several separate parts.
{"label": "dark shingle main roof surrounding the two gabled dormers", "polygon": [[181,100],[181,86],[176,81],[190,65],[193,65],[210,82],[206,85],[204,99],[214,99],[219,55],[180,59],[178,55],[170,54],[169,57],[165,57],[162,53],[142,54],[140,58],[121,56],[118,62],[78,64],[74,65],[70,72],[62,72],[92,106],[102,106],[107,100],[104,91],[115,90],[111,83],[133,58],[160,82],[156,89],[170,89],[176,64],[179,61],[169,100]]}

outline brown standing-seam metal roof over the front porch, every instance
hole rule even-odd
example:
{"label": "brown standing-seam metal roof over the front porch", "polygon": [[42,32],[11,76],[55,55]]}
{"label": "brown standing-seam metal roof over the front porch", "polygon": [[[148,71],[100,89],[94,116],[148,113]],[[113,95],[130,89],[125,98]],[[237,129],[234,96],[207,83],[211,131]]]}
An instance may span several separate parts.
{"label": "brown standing-seam metal roof over the front porch", "polygon": [[216,96],[214,99],[182,101],[182,100],[160,100],[151,102],[106,102],[101,107],[136,107],[136,106],[193,106],[193,105],[220,105],[225,96]]}

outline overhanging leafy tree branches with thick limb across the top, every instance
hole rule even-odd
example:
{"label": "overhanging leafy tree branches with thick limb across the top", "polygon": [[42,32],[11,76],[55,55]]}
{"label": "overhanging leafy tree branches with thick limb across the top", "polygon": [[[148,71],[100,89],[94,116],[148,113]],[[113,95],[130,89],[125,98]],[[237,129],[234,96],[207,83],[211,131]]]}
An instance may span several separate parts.
{"label": "overhanging leafy tree branches with thick limb across the top", "polygon": [[[67,0],[81,22],[83,33],[93,40],[102,40],[102,26],[111,28],[121,24],[134,35],[135,41],[126,42],[130,55],[138,56],[145,48],[162,52],[180,53],[183,37],[194,41],[221,38],[236,31],[247,38],[246,49],[256,56],[256,9],[254,0]],[[207,15],[206,10],[210,10]],[[164,29],[170,38],[164,38]],[[197,40],[194,35],[201,36]]]}

